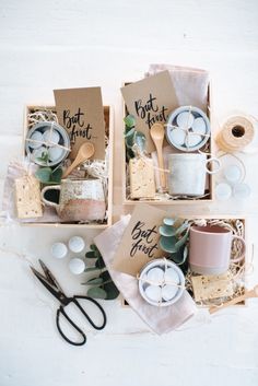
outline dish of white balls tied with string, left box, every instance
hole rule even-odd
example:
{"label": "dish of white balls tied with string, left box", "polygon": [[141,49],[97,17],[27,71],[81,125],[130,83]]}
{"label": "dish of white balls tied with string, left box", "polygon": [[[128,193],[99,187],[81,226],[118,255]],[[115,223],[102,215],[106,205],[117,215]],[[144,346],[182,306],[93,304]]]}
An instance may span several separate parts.
{"label": "dish of white balls tied with string, left box", "polygon": [[[69,154],[70,140],[67,131],[56,122],[33,126],[26,136],[25,150],[31,160],[40,166],[55,166]],[[45,153],[48,160],[39,160]]]}

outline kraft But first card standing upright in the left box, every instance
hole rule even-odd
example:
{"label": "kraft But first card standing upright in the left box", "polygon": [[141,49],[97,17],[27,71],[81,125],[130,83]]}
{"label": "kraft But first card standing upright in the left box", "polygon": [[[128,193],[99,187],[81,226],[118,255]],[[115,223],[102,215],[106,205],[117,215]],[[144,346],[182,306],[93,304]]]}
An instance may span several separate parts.
{"label": "kraft But first card standing upright in the left box", "polygon": [[69,133],[74,160],[85,141],[94,144],[93,159],[105,159],[105,121],[101,87],[54,90],[59,125]]}

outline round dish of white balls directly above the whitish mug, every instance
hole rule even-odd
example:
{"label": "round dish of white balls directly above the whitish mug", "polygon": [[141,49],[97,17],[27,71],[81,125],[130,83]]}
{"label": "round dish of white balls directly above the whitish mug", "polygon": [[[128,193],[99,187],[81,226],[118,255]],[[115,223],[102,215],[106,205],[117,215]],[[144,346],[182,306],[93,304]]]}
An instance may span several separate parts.
{"label": "round dish of white balls directly above the whitish mug", "polygon": [[210,131],[210,121],[200,108],[183,106],[168,116],[166,139],[174,148],[191,152],[207,143]]}

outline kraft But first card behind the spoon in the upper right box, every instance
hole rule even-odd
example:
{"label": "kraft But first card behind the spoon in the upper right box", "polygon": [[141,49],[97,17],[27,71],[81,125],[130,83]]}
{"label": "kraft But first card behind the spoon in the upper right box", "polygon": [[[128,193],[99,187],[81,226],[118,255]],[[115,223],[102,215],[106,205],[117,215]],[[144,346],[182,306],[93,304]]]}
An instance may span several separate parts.
{"label": "kraft But first card behind the spoon in the upper right box", "polygon": [[153,124],[165,124],[169,113],[178,107],[174,84],[168,71],[162,71],[121,89],[129,114],[136,117],[136,128],[146,137],[146,151],[154,144],[150,137]]}

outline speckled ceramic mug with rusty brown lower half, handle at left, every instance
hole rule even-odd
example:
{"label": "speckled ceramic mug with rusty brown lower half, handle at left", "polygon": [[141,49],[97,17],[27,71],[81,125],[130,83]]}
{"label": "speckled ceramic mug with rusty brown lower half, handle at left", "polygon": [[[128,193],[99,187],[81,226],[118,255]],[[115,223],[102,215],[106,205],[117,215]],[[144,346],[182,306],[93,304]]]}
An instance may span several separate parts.
{"label": "speckled ceramic mug with rusty brown lower half, handle at left", "polygon": [[[59,203],[45,198],[48,190],[60,190]],[[101,221],[105,218],[106,202],[99,179],[62,179],[60,185],[42,190],[46,206],[56,208],[61,222]]]}

